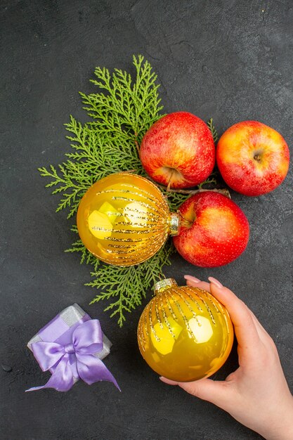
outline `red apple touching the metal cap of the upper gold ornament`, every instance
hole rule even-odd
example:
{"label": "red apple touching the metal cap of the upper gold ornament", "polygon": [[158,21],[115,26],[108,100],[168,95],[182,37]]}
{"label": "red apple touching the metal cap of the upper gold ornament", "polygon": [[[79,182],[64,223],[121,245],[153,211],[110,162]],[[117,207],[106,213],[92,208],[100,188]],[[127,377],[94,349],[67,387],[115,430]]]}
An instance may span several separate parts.
{"label": "red apple touching the metal cap of the upper gold ornament", "polygon": [[249,239],[245,214],[225,195],[205,191],[185,200],[179,212],[182,226],[174,245],[195,266],[228,264],[242,254]]}

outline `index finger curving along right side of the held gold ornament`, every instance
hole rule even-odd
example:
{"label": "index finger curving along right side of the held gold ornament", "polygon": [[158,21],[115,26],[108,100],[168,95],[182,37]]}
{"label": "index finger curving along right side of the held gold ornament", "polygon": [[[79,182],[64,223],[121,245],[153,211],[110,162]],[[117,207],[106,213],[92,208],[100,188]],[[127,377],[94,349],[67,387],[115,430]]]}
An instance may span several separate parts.
{"label": "index finger curving along right side of the held gold ornament", "polygon": [[[252,313],[244,302],[227,287],[223,287],[215,278],[209,277],[211,294],[219,299],[230,314],[241,355],[256,356],[259,333],[252,318]],[[241,359],[240,359],[241,361]]]}

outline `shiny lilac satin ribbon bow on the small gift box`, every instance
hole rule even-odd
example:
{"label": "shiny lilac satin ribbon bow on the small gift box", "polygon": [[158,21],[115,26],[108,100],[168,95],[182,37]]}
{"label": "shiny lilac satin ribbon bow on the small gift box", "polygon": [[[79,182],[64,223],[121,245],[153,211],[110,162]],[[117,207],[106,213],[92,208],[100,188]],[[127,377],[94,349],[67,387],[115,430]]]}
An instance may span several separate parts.
{"label": "shiny lilac satin ribbon bow on the small gift box", "polygon": [[54,388],[57,391],[68,391],[74,384],[72,365],[80,379],[91,385],[100,380],[108,380],[119,388],[115,377],[104,363],[94,354],[103,349],[103,332],[98,319],[86,321],[77,326],[72,333],[72,342],[57,344],[56,342],[34,342],[32,352],[41,370],[47,371],[54,367],[55,371],[42,387],[32,387],[26,391],[43,388]]}

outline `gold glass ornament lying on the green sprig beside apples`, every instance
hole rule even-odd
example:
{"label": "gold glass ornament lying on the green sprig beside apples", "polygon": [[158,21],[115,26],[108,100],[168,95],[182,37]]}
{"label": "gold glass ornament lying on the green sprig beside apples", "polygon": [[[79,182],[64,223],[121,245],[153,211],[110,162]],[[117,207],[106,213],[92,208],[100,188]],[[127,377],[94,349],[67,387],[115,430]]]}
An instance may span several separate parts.
{"label": "gold glass ornament lying on the green sprig beside apples", "polygon": [[94,183],[77,211],[77,228],[85,247],[116,266],[149,259],[169,234],[178,233],[178,226],[178,214],[169,211],[157,186],[130,173],[111,174]]}

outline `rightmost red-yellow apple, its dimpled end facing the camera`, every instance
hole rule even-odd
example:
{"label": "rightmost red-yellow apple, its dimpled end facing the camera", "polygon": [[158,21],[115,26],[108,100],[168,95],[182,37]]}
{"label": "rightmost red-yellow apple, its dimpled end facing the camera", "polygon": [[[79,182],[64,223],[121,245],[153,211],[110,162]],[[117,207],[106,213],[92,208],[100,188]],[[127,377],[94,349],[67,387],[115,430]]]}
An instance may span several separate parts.
{"label": "rightmost red-yellow apple, its dimpled end facing the camera", "polygon": [[261,122],[243,121],[221,136],[216,162],[230,188],[244,195],[261,195],[285,179],[289,148],[278,131]]}

